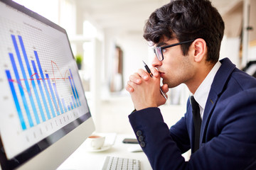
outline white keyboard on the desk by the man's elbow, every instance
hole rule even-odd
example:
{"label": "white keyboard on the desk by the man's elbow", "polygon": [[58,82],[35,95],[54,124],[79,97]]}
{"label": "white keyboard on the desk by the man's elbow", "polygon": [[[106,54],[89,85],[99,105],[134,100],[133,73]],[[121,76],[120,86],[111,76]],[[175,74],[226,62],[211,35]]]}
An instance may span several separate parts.
{"label": "white keyboard on the desk by the man's elbow", "polygon": [[140,162],[137,159],[126,159],[120,157],[106,157],[105,163],[102,170],[112,170],[112,169],[128,169],[128,170],[139,170]]}

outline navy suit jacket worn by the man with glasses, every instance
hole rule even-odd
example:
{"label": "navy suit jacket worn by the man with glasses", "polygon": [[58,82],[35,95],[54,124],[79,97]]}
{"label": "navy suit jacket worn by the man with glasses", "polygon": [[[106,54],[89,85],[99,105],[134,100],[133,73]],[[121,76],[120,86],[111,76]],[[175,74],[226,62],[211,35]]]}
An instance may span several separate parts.
{"label": "navy suit jacket worn by the man with glasses", "polygon": [[220,62],[203,114],[200,148],[188,162],[181,154],[188,149],[193,151],[189,100],[185,115],[170,129],[159,108],[129,115],[153,169],[256,169],[256,79],[227,58]]}

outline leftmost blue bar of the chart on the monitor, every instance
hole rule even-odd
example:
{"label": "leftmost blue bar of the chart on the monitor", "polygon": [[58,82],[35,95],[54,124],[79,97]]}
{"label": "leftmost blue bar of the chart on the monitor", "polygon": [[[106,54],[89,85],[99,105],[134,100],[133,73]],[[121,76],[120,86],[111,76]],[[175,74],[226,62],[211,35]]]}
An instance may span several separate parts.
{"label": "leftmost blue bar of the chart on the monitor", "polygon": [[10,74],[9,70],[6,70],[6,76],[8,78],[9,85],[10,85],[10,88],[11,88],[11,94],[13,95],[13,98],[14,98],[14,103],[15,103],[15,106],[16,106],[16,110],[18,112],[18,118],[21,122],[21,128],[22,128],[22,130],[26,130],[26,124],[25,124],[25,121],[24,121],[24,118],[23,118],[23,115],[22,115],[22,112],[21,112],[21,106],[18,103],[18,97],[16,95],[16,91],[14,89],[14,83],[12,82],[11,74]]}

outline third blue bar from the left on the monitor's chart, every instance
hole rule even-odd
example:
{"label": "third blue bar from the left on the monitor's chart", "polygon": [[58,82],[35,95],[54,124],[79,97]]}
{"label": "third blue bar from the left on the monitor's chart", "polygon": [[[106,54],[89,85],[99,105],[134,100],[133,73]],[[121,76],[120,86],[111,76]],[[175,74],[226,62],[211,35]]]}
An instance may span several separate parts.
{"label": "third blue bar from the left on the monitor's chart", "polygon": [[[30,86],[29,86],[29,84],[28,84],[28,79],[27,79],[27,77],[26,77],[25,69],[24,69],[24,67],[23,67],[23,62],[22,62],[22,60],[21,60],[21,54],[20,54],[20,52],[19,52],[19,50],[18,50],[18,45],[17,45],[17,42],[16,42],[16,38],[15,38],[14,35],[11,35],[11,38],[12,38],[12,40],[13,40],[13,42],[14,42],[14,47],[15,47],[15,50],[16,50],[16,55],[17,55],[17,57],[18,57],[18,63],[19,63],[19,65],[20,65],[20,67],[21,67],[21,72],[22,72],[22,75],[23,75],[23,78],[24,78],[24,81],[25,81],[26,90],[28,91],[29,100],[30,100],[30,102],[31,102],[31,106],[32,106],[32,108],[33,108],[33,113],[34,113],[35,118],[36,118],[36,123],[39,124],[39,123],[40,123],[40,120],[39,120],[39,118],[38,118],[38,113],[37,113],[37,111],[36,111],[36,105],[35,105],[35,103],[34,103],[34,101],[33,101],[33,97],[32,97],[32,94],[31,94],[31,89],[30,89]],[[22,42],[21,39],[20,39],[20,42],[21,42],[21,48],[22,48],[22,51],[23,51],[23,54],[24,54],[24,50],[25,50],[25,49],[24,49],[24,45],[23,45],[23,42]],[[25,53],[26,53],[26,52],[25,52]]]}

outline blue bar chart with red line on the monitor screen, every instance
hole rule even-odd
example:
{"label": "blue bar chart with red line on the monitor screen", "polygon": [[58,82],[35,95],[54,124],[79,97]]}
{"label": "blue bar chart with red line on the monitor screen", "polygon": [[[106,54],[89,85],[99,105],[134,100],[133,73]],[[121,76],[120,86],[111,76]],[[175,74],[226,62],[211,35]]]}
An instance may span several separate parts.
{"label": "blue bar chart with red line on the monitor screen", "polygon": [[[51,74],[46,73],[37,50],[33,50],[33,60],[28,57],[21,35],[10,35],[15,52],[9,52],[11,69],[6,69],[12,97],[16,106],[22,130],[68,113],[81,106],[78,89],[75,86],[71,69],[65,72],[58,63],[51,60]],[[48,68],[49,68],[48,67]],[[65,84],[65,89],[61,86]],[[67,86],[67,84],[69,86]],[[61,96],[63,90],[70,91],[69,96]]]}

